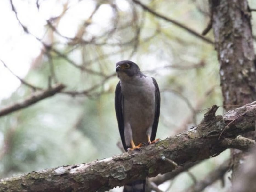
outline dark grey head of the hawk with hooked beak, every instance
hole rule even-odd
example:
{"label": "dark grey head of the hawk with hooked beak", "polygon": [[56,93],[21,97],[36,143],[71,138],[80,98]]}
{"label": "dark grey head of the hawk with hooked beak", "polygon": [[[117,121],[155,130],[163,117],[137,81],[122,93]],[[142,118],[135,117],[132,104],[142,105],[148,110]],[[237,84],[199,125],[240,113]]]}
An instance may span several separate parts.
{"label": "dark grey head of the hawk with hooked beak", "polygon": [[128,80],[141,74],[139,66],[128,60],[116,63],[116,73],[120,80]]}

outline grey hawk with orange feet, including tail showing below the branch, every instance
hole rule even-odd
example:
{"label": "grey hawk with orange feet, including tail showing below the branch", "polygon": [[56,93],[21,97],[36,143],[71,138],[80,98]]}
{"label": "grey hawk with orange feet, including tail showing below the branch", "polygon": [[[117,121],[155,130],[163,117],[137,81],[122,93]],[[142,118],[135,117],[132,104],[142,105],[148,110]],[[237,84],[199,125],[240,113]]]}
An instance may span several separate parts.
{"label": "grey hawk with orange feet, including tail showing below the branch", "polygon": [[[160,115],[160,92],[156,80],[144,75],[129,60],[116,63],[120,79],[115,90],[115,110],[125,151],[140,150],[143,144],[156,143]],[[125,184],[123,192],[145,192],[146,178]]]}

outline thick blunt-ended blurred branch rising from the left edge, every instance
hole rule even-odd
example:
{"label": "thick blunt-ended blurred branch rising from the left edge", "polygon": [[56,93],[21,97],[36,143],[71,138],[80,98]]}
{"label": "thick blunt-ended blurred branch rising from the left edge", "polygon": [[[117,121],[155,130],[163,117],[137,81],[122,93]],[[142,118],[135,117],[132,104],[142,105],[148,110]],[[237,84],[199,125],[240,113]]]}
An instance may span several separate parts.
{"label": "thick blunt-ended blurred branch rising from the left edge", "polygon": [[34,92],[25,100],[2,108],[0,110],[0,117],[7,115],[9,113],[12,113],[14,111],[20,110],[22,108],[28,107],[28,106],[30,106],[40,100],[43,100],[47,97],[51,97],[51,96],[55,95],[56,93],[60,92],[64,88],[65,88],[65,86],[63,84],[56,84],[47,90]]}

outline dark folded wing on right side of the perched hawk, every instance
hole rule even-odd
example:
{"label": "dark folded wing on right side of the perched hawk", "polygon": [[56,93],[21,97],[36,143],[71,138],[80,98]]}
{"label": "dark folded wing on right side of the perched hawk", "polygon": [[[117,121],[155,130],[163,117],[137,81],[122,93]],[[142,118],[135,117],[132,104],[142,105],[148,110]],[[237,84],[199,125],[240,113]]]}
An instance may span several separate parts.
{"label": "dark folded wing on right side of the perched hawk", "polygon": [[158,120],[159,120],[159,115],[160,115],[160,92],[159,92],[159,87],[158,84],[156,82],[156,79],[153,79],[153,83],[155,85],[155,117],[154,117],[154,122],[153,122],[153,126],[152,126],[152,133],[151,133],[151,137],[150,140],[153,141],[156,138],[156,131],[157,131],[157,126],[158,126]]}

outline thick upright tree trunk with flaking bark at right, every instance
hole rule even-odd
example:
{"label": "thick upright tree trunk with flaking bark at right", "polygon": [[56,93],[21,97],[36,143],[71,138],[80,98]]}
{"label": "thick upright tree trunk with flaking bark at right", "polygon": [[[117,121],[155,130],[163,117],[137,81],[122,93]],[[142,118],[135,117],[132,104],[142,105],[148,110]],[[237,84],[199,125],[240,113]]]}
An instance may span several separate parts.
{"label": "thick upright tree trunk with flaking bark at right", "polygon": [[[209,0],[226,110],[256,100],[255,54],[247,0]],[[246,135],[254,138],[254,132]],[[233,177],[245,154],[232,150]]]}

